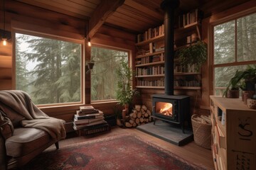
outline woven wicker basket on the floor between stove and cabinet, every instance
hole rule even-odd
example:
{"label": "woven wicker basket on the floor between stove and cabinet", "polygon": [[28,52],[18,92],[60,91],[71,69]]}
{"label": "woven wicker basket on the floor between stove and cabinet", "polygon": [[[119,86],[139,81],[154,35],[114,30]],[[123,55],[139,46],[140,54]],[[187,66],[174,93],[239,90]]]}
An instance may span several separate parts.
{"label": "woven wicker basket on the floor between stove and cabinet", "polygon": [[201,118],[199,115],[191,117],[193,136],[197,145],[210,149],[211,141],[211,123]]}

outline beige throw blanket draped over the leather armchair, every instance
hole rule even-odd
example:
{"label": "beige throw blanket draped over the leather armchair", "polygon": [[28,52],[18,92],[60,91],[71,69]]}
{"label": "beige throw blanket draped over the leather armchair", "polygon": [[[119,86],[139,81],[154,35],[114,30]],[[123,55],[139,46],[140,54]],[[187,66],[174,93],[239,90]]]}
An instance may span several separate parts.
{"label": "beige throw blanket draped over the leather armchair", "polygon": [[65,138],[65,121],[51,118],[43,113],[24,91],[0,91],[0,108],[7,115],[16,113],[24,117],[25,119],[21,120],[24,128],[46,130],[55,140]]}

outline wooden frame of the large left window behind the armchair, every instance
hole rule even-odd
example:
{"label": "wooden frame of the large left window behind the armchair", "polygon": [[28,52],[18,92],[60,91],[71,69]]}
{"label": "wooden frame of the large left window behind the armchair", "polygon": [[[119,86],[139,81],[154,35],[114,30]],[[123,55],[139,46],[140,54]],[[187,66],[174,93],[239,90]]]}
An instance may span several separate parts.
{"label": "wooden frame of the large left window behind the armchair", "polygon": [[60,35],[53,35],[49,33],[39,33],[33,30],[24,30],[21,28],[13,28],[12,29],[13,33],[13,66],[12,66],[12,86],[13,89],[16,89],[16,33],[19,34],[26,34],[26,35],[31,35],[31,36],[38,36],[41,38],[50,38],[53,40],[63,40],[66,42],[74,42],[78,43],[81,45],[81,56],[80,56],[80,97],[81,101],[79,102],[69,102],[69,103],[48,103],[48,104],[38,104],[36,105],[38,108],[55,108],[55,107],[62,107],[62,106],[81,106],[85,104],[85,40],[78,40],[74,38],[68,38],[68,37],[63,37]]}

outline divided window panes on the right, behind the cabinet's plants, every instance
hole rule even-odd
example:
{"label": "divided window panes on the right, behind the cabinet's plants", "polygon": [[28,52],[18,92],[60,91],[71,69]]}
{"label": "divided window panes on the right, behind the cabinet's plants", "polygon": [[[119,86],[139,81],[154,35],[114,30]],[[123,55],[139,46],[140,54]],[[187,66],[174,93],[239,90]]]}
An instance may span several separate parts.
{"label": "divided window panes on the right, behind the cabinet's plants", "polygon": [[214,94],[222,95],[237,70],[256,64],[256,13],[213,27]]}

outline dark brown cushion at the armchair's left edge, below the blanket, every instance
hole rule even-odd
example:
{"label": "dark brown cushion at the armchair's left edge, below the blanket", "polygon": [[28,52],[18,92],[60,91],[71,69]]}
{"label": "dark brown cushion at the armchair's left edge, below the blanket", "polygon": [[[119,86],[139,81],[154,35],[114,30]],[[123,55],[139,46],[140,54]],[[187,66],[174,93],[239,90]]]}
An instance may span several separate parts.
{"label": "dark brown cushion at the armchair's left edge, below the blanket", "polygon": [[11,120],[7,117],[4,111],[0,109],[0,132],[1,136],[6,140],[14,134],[14,126],[11,123]]}

